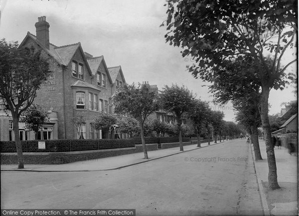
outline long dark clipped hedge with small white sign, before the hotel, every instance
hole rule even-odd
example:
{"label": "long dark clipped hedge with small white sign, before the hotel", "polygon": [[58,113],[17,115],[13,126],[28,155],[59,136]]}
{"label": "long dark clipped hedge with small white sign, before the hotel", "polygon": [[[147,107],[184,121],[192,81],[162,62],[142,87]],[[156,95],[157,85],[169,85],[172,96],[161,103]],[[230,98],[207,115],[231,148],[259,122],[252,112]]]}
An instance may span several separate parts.
{"label": "long dark clipped hedge with small white sign, before the hotel", "polygon": [[[46,149],[38,149],[44,141]],[[23,152],[66,152],[135,147],[134,139],[56,139],[21,141]],[[1,141],[0,152],[16,152],[15,141]]]}

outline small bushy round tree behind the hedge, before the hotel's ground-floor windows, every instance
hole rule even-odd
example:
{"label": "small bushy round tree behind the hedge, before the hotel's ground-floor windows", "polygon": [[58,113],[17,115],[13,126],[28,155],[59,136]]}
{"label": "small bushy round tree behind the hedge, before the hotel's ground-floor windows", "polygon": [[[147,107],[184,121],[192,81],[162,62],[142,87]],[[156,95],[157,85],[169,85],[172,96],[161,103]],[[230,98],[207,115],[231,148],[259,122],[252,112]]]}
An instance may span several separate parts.
{"label": "small bushy round tree behind the hedge, before the hotel's ground-floor windows", "polygon": [[38,130],[44,122],[48,121],[48,112],[41,106],[32,104],[20,116],[20,120],[25,123],[25,128],[34,131],[35,140],[38,139]]}

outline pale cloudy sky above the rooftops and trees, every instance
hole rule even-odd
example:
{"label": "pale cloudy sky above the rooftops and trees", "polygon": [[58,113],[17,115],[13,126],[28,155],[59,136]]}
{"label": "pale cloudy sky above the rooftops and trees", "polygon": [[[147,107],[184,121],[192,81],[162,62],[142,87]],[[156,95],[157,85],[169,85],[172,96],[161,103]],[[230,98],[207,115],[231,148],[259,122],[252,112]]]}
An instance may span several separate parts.
{"label": "pale cloudy sky above the rooftops and trees", "polygon": [[[206,85],[187,72],[192,64],[183,58],[181,49],[165,43],[166,20],[164,0],[0,0],[0,38],[21,41],[27,31],[36,34],[37,17],[46,16],[50,24],[50,43],[56,46],[81,42],[85,52],[104,56],[108,67],[122,66],[128,84],[149,82],[162,90],[164,85],[184,85],[197,98],[212,101]],[[286,60],[292,58],[288,53]],[[289,72],[296,73],[294,64]],[[271,90],[269,114],[280,112],[282,103],[297,100],[290,86]],[[234,120],[232,105],[210,104]]]}

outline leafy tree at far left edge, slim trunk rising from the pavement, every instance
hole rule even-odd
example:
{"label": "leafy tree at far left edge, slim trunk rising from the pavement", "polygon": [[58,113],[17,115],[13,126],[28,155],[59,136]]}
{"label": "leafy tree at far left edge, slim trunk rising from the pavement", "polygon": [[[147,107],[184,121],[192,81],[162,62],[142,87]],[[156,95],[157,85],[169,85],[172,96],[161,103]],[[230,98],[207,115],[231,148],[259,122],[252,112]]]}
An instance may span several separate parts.
{"label": "leafy tree at far left edge, slim trunk rising from the pavement", "polygon": [[18,48],[18,44],[0,40],[0,99],[13,121],[18,169],[23,169],[23,153],[19,136],[19,118],[31,106],[36,91],[50,74],[47,60],[40,51]]}

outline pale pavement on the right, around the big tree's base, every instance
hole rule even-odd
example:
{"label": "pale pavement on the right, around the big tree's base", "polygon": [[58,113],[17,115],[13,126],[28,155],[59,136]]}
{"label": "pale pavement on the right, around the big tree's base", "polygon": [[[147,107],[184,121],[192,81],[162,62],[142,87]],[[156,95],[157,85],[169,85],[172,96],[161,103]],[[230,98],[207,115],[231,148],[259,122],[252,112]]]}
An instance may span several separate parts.
{"label": "pale pavement on the right, around the big tree's base", "polygon": [[[298,215],[298,156],[290,155],[288,149],[275,147],[277,179],[281,189],[268,191],[268,162],[264,140],[259,140],[263,160],[255,161],[258,181],[262,182],[261,198],[266,198],[265,215]],[[252,146],[253,150],[253,146]],[[254,155],[254,152],[253,152]]]}

